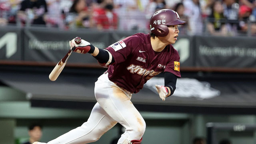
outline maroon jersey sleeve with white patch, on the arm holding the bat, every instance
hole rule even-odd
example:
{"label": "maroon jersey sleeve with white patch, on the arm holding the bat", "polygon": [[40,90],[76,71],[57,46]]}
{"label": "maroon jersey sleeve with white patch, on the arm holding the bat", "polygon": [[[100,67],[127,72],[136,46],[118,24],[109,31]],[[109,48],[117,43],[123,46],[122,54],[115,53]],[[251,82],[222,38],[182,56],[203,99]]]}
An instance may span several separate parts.
{"label": "maroon jersey sleeve with white patch, on the arm holding the bat", "polygon": [[106,50],[112,54],[116,64],[118,64],[124,62],[139,44],[140,38],[138,36],[129,36],[108,46]]}

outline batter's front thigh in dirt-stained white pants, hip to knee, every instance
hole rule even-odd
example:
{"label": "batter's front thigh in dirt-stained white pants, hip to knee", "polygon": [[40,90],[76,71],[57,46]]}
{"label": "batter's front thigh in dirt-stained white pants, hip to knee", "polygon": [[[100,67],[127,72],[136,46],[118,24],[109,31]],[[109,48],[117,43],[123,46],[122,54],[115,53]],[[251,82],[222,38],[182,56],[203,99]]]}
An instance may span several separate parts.
{"label": "batter's front thigh in dirt-stained white pants, hip to knee", "polygon": [[[101,90],[100,90],[101,89]],[[126,127],[145,127],[145,122],[130,98],[111,82],[95,86],[95,96],[100,106],[114,120]]]}

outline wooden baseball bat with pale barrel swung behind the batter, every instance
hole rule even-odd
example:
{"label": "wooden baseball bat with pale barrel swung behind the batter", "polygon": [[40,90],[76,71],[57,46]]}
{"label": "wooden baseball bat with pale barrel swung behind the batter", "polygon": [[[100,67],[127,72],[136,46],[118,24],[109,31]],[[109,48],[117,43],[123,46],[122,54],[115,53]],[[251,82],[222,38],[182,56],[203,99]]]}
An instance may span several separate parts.
{"label": "wooden baseball bat with pale barrel swung behind the batter", "polygon": [[[76,44],[79,44],[81,42],[81,38],[76,37],[75,38],[75,42]],[[60,60],[60,62],[58,62],[58,64],[56,64],[56,66],[54,67],[54,69],[52,70],[52,72],[49,74],[49,79],[51,81],[55,81],[58,76],[60,75],[60,73],[62,72],[63,68],[65,67],[68,58],[70,57],[70,55],[72,54],[74,49],[70,49],[68,51],[68,53]]]}

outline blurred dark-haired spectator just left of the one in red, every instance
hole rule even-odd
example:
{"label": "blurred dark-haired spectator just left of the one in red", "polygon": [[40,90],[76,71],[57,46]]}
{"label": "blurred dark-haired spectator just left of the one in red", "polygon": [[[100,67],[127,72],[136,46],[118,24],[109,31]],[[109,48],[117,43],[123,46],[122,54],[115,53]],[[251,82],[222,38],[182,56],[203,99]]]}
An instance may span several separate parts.
{"label": "blurred dark-haired spectator just left of the one in red", "polygon": [[85,0],[74,0],[69,13],[66,16],[66,22],[71,28],[90,28],[91,18],[87,9]]}

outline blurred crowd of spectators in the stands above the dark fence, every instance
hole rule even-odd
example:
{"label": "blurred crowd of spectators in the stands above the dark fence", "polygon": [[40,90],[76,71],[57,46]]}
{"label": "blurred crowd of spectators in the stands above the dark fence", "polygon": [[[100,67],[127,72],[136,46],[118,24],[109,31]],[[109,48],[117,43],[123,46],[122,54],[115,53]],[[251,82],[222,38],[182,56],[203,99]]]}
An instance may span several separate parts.
{"label": "blurred crowd of spectators in the stands above the dark fence", "polygon": [[188,35],[256,35],[256,0],[0,0],[0,25],[149,31],[160,9],[178,12]]}

